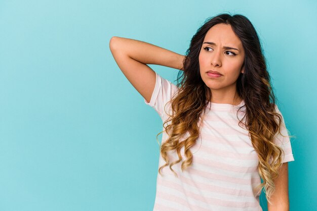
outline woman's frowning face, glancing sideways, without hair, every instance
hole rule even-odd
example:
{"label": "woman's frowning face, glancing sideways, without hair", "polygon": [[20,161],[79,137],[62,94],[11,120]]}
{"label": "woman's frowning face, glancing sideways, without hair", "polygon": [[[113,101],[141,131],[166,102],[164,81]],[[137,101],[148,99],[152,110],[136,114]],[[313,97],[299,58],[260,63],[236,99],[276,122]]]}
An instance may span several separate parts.
{"label": "woman's frowning face, glancing sideways, without hair", "polygon": [[[231,26],[214,25],[207,32],[200,51],[201,77],[211,91],[236,90],[236,80],[240,73],[244,73],[244,59],[242,42],[234,34]],[[208,71],[217,71],[221,75],[208,74]]]}

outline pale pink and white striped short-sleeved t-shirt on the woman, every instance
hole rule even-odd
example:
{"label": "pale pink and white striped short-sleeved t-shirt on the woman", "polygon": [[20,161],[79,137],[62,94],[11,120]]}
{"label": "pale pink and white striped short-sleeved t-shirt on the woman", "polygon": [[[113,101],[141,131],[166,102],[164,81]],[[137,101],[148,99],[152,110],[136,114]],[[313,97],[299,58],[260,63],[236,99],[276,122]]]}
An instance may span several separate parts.
{"label": "pale pink and white striped short-sleeved t-shirt on the woman", "polygon": [[[150,102],[144,101],[154,108],[163,122],[168,119],[166,112],[171,114],[171,104],[168,102],[177,90],[176,85],[156,73]],[[200,136],[190,148],[193,154],[192,165],[184,172],[181,171],[182,162],[173,165],[172,169],[178,177],[175,177],[169,166],[162,169],[163,177],[157,173],[153,210],[262,210],[259,203],[261,192],[255,189],[261,183],[258,155],[248,130],[238,125],[236,117],[237,109],[244,103],[244,100],[239,105],[208,102],[209,110],[198,123],[201,127]],[[238,113],[239,119],[244,116],[244,108]],[[276,105],[275,108],[281,114]],[[288,135],[284,119],[283,125],[281,132]],[[168,138],[163,130],[162,143]],[[283,163],[294,161],[289,137],[277,135],[274,143],[285,152]],[[178,160],[175,151],[167,153],[170,163]],[[184,147],[181,148],[181,155],[184,161]],[[159,167],[164,164],[160,154]]]}

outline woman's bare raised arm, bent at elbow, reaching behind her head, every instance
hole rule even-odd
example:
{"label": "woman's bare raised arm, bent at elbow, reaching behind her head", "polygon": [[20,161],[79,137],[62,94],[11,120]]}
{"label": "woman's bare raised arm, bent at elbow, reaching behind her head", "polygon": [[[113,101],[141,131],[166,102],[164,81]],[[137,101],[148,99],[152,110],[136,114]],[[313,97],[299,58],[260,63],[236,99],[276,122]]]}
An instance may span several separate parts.
{"label": "woman's bare raised arm, bent at elbow, reaching behind her head", "polygon": [[110,39],[109,47],[118,67],[148,102],[156,78],[155,72],[146,64],[183,70],[185,56],[147,42],[114,36]]}

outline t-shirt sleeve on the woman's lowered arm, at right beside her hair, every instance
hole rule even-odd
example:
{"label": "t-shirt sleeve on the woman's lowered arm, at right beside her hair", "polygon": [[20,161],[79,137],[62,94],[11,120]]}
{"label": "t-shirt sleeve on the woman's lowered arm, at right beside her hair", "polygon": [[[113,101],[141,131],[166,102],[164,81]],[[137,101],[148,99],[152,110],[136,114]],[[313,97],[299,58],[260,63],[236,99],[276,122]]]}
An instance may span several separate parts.
{"label": "t-shirt sleeve on the woman's lowered arm, at right beside her hair", "polygon": [[[275,111],[282,115],[281,111],[279,110],[278,106],[275,104]],[[279,132],[275,135],[274,143],[283,148],[285,156],[282,159],[282,163],[295,161],[293,152],[292,152],[292,145],[290,141],[290,137],[288,137],[288,132],[285,126],[284,117],[282,115],[282,126],[281,126],[281,133],[284,135],[282,136]],[[286,136],[286,137],[285,137]]]}

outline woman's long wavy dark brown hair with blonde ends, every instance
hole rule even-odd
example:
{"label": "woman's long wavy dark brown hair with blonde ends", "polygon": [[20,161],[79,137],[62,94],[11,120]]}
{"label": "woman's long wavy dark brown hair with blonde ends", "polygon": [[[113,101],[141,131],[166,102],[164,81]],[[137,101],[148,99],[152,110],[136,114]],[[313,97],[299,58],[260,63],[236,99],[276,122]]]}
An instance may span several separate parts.
{"label": "woman's long wavy dark brown hair with blonde ends", "polygon": [[[284,151],[274,144],[273,138],[277,132],[281,133],[283,119],[282,115],[275,110],[275,97],[270,85],[270,76],[266,69],[266,61],[259,37],[250,20],[243,15],[220,14],[211,17],[192,37],[183,61],[184,68],[178,73],[177,94],[170,101],[173,115],[163,124],[172,121],[170,125],[164,126],[169,133],[169,138],[160,147],[166,164],[159,168],[159,173],[161,174],[162,168],[170,165],[170,170],[177,176],[172,166],[182,161],[180,153],[182,146],[184,146],[186,160],[182,162],[181,169],[183,171],[191,166],[190,147],[195,144],[200,134],[197,123],[203,111],[206,111],[207,103],[211,99],[211,90],[200,75],[199,54],[208,30],[220,23],[231,25],[245,50],[243,64],[245,70],[244,73],[240,74],[236,83],[237,93],[245,101],[245,104],[238,110],[240,111],[245,107],[245,115],[242,119],[245,122],[240,120],[239,125],[243,123],[249,130],[252,145],[259,158],[259,175],[263,180],[257,189],[260,191],[264,187],[267,201],[269,201],[275,190],[273,180],[279,176],[278,171],[282,166],[282,153]],[[187,131],[189,136],[180,141]],[[170,150],[175,150],[179,158],[171,164],[167,155],[167,151]]]}

